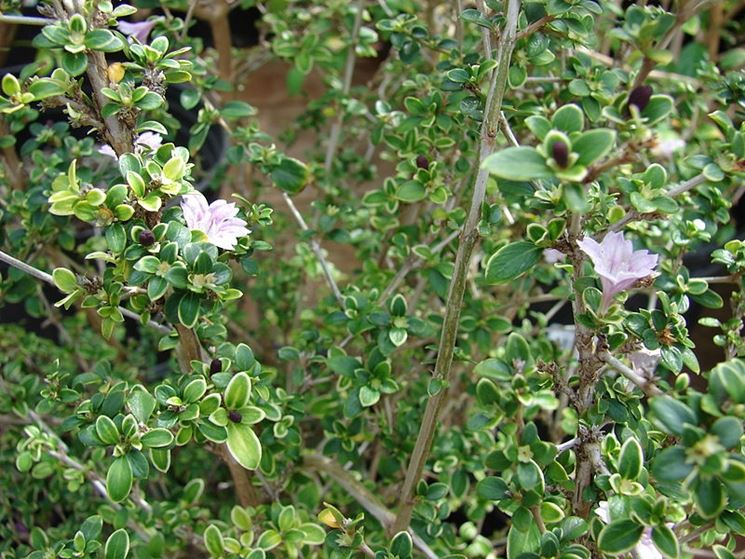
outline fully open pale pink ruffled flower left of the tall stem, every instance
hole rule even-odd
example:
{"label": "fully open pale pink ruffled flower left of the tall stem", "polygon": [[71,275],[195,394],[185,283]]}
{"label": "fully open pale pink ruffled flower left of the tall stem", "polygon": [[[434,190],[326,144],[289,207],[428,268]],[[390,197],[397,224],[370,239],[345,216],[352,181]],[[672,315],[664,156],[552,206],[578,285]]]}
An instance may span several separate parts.
{"label": "fully open pale pink ruffled flower left of the tall stem", "polygon": [[235,204],[225,200],[215,200],[208,205],[200,192],[191,192],[183,196],[181,209],[189,229],[201,231],[209,242],[225,250],[233,250],[238,239],[251,232],[246,222],[236,217]]}

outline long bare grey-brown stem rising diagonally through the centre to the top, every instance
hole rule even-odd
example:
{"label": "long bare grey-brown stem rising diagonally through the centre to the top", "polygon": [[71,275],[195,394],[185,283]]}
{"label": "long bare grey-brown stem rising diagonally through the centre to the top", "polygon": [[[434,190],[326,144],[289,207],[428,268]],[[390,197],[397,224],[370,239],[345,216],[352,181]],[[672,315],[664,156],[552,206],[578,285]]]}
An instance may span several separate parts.
{"label": "long bare grey-brown stem rising diagonally through the centre to the top", "polygon": [[427,400],[419,435],[401,489],[399,512],[393,523],[393,532],[400,532],[407,529],[411,522],[411,514],[414,509],[414,488],[421,479],[422,472],[424,471],[424,466],[427,462],[430,448],[432,447],[440,411],[448,392],[445,387],[450,380],[452,372],[453,353],[458,339],[458,325],[461,307],[463,306],[466,279],[470,268],[471,254],[478,239],[478,222],[481,216],[481,205],[484,201],[486,182],[489,177],[488,171],[482,167],[481,163],[495,150],[500,125],[499,113],[502,109],[502,98],[507,83],[512,49],[515,44],[519,13],[520,0],[508,0],[507,20],[497,48],[497,67],[492,76],[492,83],[485,107],[485,119],[481,129],[479,172],[474,184],[468,218],[463,224],[461,231],[458,252],[455,257],[455,269],[445,306],[445,317],[442,324],[437,361],[435,362],[434,379],[441,381],[443,387]]}

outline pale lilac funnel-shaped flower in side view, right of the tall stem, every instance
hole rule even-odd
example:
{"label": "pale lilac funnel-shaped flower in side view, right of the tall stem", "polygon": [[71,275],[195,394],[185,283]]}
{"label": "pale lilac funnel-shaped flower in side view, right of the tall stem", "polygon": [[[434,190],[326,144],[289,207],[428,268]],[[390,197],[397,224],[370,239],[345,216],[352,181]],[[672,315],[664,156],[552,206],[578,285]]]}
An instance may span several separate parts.
{"label": "pale lilac funnel-shaped flower in side view, right of the tall stem", "polygon": [[600,243],[585,237],[577,244],[590,257],[600,276],[603,284],[602,310],[608,308],[615,295],[652,275],[657,266],[656,254],[634,250],[631,241],[624,239],[620,232],[611,231]]}

